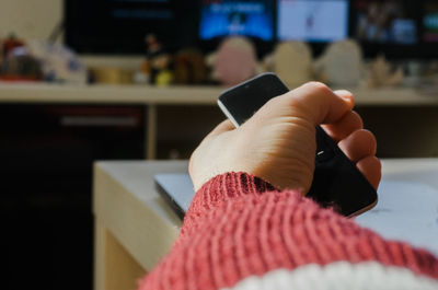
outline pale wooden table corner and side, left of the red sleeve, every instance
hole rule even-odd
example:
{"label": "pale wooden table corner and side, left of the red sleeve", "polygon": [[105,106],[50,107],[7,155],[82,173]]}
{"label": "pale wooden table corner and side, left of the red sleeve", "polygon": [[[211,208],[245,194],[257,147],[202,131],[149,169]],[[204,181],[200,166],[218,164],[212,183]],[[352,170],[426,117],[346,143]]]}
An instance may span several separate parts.
{"label": "pale wooden table corner and side, left of the red sleeve", "polygon": [[94,289],[134,289],[168,253],[181,220],[157,194],[153,175],[186,161],[99,162],[94,167]]}

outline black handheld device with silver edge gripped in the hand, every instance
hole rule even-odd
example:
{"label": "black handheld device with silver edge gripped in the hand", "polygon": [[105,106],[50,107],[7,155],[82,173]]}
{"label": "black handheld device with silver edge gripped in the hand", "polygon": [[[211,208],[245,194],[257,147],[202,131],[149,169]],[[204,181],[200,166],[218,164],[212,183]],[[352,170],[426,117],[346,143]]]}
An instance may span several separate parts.
{"label": "black handheld device with silver edge gripped in the hand", "polygon": [[[218,105],[239,127],[267,101],[289,92],[275,73],[262,73],[224,91]],[[315,171],[307,195],[322,207],[346,216],[358,216],[377,205],[377,192],[336,142],[316,127]]]}

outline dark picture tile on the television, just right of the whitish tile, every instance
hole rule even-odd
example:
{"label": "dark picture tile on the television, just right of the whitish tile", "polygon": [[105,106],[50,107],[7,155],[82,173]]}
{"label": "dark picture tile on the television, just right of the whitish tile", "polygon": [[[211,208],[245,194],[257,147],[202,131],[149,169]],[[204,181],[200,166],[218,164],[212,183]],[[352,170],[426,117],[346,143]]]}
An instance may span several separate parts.
{"label": "dark picture tile on the television, just right of the whitish tile", "polygon": [[366,43],[416,44],[415,5],[414,1],[355,1],[356,38]]}

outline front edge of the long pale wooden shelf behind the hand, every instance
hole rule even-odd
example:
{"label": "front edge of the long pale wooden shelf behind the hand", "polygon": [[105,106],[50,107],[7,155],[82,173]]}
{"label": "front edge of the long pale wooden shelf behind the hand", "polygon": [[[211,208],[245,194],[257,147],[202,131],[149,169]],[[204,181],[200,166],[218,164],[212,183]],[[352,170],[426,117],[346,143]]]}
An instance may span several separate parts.
{"label": "front edge of the long pale wooden shelf behind the hand", "polygon": [[[216,104],[222,86],[60,85],[0,82],[0,103]],[[357,105],[438,105],[437,93],[414,89],[349,89]]]}

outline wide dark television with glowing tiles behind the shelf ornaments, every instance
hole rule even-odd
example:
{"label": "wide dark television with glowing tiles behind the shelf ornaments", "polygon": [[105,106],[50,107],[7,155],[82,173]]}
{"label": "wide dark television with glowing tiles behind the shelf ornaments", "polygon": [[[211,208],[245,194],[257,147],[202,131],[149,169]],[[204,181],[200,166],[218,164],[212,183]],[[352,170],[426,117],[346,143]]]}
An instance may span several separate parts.
{"label": "wide dark television with glowing tiles behind the shelf ornaments", "polygon": [[145,54],[155,34],[171,51],[217,48],[250,37],[260,57],[276,42],[326,44],[351,37],[366,57],[438,57],[435,0],[65,0],[65,40],[81,54]]}

